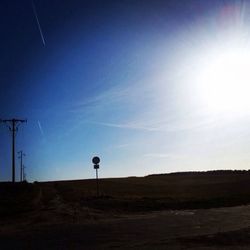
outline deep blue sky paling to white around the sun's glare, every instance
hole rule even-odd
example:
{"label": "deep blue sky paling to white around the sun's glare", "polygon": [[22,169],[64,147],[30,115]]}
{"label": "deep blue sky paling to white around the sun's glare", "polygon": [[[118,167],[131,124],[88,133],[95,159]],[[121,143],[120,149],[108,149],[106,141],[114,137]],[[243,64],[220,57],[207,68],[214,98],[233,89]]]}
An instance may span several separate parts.
{"label": "deep blue sky paling to white around the sun's glare", "polygon": [[[30,1],[0,4],[0,117],[28,119],[28,180],[92,178],[94,155],[101,177],[249,168],[249,103],[222,109],[199,74],[213,53],[248,53],[247,3],[34,2],[45,46]],[[10,180],[4,125],[0,138]]]}

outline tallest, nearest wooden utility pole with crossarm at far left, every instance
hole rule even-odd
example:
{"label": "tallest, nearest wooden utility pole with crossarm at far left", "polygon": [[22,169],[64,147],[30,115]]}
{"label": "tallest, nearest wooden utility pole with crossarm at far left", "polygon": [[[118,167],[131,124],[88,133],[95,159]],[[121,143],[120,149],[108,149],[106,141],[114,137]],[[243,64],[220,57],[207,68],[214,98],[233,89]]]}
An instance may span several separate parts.
{"label": "tallest, nearest wooden utility pole with crossarm at far left", "polygon": [[8,124],[9,130],[12,132],[12,182],[15,182],[15,136],[18,131],[18,127],[21,123],[27,122],[22,119],[0,120],[0,122]]}

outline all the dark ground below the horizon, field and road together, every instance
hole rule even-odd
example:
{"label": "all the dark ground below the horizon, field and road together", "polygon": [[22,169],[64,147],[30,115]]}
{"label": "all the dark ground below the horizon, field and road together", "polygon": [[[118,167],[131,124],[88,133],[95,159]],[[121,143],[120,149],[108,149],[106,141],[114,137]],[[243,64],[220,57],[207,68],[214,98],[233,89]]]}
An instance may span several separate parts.
{"label": "all the dark ground below the horizon, field and road together", "polygon": [[0,222],[0,249],[250,249],[250,172],[0,183]]}

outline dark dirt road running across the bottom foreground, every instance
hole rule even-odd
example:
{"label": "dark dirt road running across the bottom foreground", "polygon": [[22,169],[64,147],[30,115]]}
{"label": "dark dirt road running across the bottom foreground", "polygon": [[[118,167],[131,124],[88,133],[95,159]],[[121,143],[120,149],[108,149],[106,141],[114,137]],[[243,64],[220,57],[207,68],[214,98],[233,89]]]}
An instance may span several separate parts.
{"label": "dark dirt road running across the bottom foreground", "polygon": [[6,224],[5,229],[1,249],[249,249],[250,206]]}

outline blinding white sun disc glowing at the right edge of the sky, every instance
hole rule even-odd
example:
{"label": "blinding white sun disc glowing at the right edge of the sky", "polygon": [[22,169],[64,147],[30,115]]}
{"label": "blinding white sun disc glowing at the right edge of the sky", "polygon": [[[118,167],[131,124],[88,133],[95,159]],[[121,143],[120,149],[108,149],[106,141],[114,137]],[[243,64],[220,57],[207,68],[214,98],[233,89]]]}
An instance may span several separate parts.
{"label": "blinding white sun disc glowing at the right edge of the sky", "polygon": [[200,102],[210,112],[250,113],[250,50],[221,48],[198,66]]}

